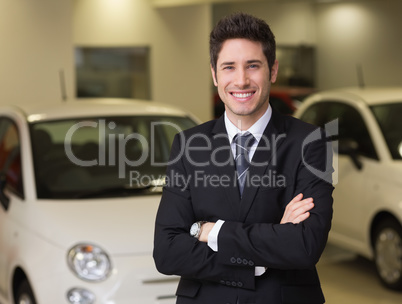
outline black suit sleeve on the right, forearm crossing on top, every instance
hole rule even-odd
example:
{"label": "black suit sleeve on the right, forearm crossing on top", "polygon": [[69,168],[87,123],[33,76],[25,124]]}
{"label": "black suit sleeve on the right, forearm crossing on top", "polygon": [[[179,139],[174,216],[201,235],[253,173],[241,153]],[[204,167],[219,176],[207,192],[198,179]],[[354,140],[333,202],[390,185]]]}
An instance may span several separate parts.
{"label": "black suit sleeve on the right, forearm crossing on top", "polygon": [[293,195],[303,193],[314,199],[310,217],[299,224],[225,222],[218,238],[223,264],[230,265],[233,256],[276,269],[309,269],[318,262],[332,219],[332,149],[320,139],[302,151],[304,157],[295,166]]}

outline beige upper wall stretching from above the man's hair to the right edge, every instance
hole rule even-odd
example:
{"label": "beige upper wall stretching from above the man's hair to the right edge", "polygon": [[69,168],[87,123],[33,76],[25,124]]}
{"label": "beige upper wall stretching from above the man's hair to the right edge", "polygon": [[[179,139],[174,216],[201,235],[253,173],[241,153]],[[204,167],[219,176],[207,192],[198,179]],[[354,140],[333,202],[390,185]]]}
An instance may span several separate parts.
{"label": "beige upper wall stretching from above the man's hair to the right edge", "polygon": [[314,46],[319,89],[358,85],[357,66],[367,85],[402,85],[400,0],[223,3],[213,20],[237,11],[265,19],[278,45]]}

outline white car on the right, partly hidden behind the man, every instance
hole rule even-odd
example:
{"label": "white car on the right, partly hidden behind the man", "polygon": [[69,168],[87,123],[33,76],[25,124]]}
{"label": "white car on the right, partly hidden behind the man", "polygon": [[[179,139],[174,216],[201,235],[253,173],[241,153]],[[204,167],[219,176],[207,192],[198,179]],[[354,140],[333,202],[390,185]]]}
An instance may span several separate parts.
{"label": "white car on the right, partly hidden behind the man", "polygon": [[402,290],[402,88],[319,92],[295,116],[324,128],[337,119],[329,241],[374,259],[383,284]]}

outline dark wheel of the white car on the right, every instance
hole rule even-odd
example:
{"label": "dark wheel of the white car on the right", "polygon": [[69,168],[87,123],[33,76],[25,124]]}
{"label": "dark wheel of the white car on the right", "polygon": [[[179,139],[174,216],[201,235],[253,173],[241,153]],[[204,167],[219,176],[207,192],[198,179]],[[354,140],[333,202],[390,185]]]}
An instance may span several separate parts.
{"label": "dark wheel of the white car on the right", "polygon": [[390,289],[402,290],[402,227],[394,219],[381,222],[374,234],[377,273]]}

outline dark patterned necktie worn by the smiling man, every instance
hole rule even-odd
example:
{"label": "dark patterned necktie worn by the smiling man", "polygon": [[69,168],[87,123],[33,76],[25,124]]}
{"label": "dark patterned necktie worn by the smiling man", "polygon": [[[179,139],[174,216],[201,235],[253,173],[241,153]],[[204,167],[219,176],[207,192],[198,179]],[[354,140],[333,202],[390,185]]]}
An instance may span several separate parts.
{"label": "dark patterned necktie worn by the smiling man", "polygon": [[247,180],[248,169],[250,165],[249,152],[250,147],[253,145],[255,138],[253,134],[247,132],[241,135],[238,133],[233,138],[236,144],[236,171],[237,171],[237,182],[239,185],[240,197],[243,194],[243,189]]}

